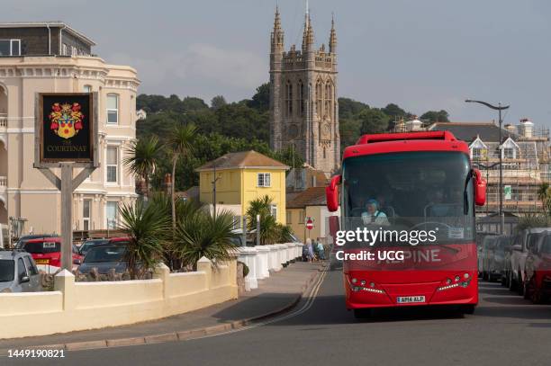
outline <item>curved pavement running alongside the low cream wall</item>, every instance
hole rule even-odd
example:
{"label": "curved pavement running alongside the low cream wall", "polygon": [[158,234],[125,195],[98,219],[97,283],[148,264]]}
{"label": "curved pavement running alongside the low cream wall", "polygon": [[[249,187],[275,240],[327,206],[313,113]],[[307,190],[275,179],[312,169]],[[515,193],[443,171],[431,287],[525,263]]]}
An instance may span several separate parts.
{"label": "curved pavement running alongside the low cream wall", "polygon": [[[312,281],[328,263],[291,263],[265,280],[258,288],[209,308],[131,326],[40,337],[0,340],[0,356],[12,349],[63,349],[67,351],[157,344],[193,339],[248,326],[252,321],[272,317],[293,308]],[[45,318],[45,321],[48,319]],[[1,362],[0,362],[1,363]]]}

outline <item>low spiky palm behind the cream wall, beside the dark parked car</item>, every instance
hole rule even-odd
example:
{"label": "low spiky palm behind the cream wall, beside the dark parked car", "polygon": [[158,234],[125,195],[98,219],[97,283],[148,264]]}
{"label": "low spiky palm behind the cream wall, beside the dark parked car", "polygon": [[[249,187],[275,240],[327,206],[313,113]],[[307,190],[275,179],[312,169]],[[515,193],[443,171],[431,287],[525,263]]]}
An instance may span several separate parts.
{"label": "low spiky palm behind the cream wall, beside the dark parked car", "polygon": [[158,210],[157,205],[143,201],[124,204],[120,211],[120,229],[130,237],[125,259],[131,280],[135,280],[160,262],[170,220],[165,212]]}

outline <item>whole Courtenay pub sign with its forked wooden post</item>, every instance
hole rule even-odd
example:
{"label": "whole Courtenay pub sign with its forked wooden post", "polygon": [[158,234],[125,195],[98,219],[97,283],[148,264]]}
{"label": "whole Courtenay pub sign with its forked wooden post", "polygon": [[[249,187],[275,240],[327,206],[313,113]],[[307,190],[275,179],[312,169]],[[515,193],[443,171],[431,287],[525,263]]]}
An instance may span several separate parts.
{"label": "whole Courtenay pub sign with its forked wooden post", "polygon": [[[99,167],[97,93],[35,96],[34,167],[61,192],[61,267],[73,268],[73,192]],[[82,171],[73,177],[74,168]],[[60,177],[52,169],[60,169]]]}

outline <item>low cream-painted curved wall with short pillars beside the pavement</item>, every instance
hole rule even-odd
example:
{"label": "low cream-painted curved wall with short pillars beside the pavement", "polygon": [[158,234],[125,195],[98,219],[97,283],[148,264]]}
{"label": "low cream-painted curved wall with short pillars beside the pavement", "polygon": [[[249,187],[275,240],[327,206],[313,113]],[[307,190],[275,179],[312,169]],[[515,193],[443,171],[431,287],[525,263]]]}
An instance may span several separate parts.
{"label": "low cream-painted curved wall with short pillars beside the pavement", "polygon": [[238,297],[236,261],[214,266],[204,257],[197,272],[161,264],[153,280],[76,283],[63,271],[54,283],[51,292],[0,293],[0,338],[128,325]]}

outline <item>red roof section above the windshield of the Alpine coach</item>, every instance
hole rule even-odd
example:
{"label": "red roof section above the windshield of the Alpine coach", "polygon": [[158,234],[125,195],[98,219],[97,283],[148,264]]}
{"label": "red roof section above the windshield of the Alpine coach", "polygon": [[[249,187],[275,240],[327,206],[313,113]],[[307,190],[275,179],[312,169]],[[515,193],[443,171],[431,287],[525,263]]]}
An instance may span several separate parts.
{"label": "red roof section above the windshield of the Alpine coach", "polygon": [[380,133],[362,136],[356,145],[345,148],[342,157],[406,151],[459,151],[468,155],[469,147],[449,131]]}

